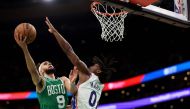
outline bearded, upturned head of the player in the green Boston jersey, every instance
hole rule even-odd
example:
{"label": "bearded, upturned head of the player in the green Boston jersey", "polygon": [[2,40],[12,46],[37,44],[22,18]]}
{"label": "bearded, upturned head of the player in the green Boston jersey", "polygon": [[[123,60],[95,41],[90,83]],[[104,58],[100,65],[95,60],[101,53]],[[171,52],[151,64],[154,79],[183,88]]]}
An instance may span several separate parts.
{"label": "bearded, upturned head of the player in the green Boston jersey", "polygon": [[38,71],[40,73],[40,76],[49,76],[54,78],[54,73],[55,73],[55,67],[52,65],[51,62],[49,61],[44,61],[38,65]]}

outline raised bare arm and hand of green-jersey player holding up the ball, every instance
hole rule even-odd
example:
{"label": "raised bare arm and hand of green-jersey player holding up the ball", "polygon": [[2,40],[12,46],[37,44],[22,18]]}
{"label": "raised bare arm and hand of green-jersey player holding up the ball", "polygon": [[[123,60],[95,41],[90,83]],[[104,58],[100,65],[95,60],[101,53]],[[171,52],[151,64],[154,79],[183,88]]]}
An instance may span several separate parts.
{"label": "raised bare arm and hand of green-jersey player holding up the ball", "polygon": [[26,44],[26,38],[27,37],[22,37],[22,34],[18,34],[18,33],[15,34],[15,40],[24,53],[26,65],[27,65],[28,71],[30,72],[30,75],[32,77],[32,81],[33,81],[34,85],[37,87],[37,89],[41,90],[43,85],[42,84],[40,85],[39,82],[42,81],[42,79],[38,73],[38,70],[34,63],[34,60],[32,59],[30,52],[28,51],[28,46]]}

